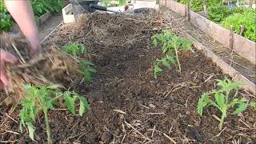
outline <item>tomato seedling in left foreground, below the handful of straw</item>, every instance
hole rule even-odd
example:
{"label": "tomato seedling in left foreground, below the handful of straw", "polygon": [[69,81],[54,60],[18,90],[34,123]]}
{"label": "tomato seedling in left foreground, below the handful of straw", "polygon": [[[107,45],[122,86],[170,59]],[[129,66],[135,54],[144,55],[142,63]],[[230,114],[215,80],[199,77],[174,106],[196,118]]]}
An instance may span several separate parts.
{"label": "tomato seedling in left foreground, below the handful of straw", "polygon": [[71,114],[75,114],[75,101],[80,100],[79,114],[82,115],[86,109],[89,109],[89,104],[86,98],[79,96],[77,93],[66,91],[64,93],[57,92],[58,86],[34,86],[26,85],[26,97],[22,99],[22,110],[20,111],[20,126],[22,131],[23,127],[28,128],[29,136],[34,140],[34,125],[38,112],[42,110],[46,122],[47,140],[51,143],[50,138],[50,125],[48,118],[48,111],[54,110],[54,104],[57,99],[64,97],[66,106]]}

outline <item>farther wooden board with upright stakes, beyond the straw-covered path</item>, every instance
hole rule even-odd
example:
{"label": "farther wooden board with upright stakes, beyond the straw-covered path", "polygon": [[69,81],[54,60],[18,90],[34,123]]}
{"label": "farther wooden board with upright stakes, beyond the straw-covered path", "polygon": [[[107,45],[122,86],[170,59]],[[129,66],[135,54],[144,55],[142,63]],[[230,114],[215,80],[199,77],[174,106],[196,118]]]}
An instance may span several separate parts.
{"label": "farther wooden board with upright stakes, beyond the straw-covered path", "polygon": [[[160,0],[159,2],[161,6],[166,6],[170,10],[173,10],[182,16],[189,17],[188,20],[190,20],[194,26],[197,26],[206,34],[209,34],[210,37],[222,43],[223,46],[230,48],[230,50],[234,50],[235,53],[256,64],[255,42],[252,42],[247,38],[243,38],[239,34],[234,34],[230,30],[226,30],[226,28],[211,22],[202,15],[189,10],[186,5],[174,2],[173,0]],[[230,35],[233,35],[233,37],[230,37]]]}

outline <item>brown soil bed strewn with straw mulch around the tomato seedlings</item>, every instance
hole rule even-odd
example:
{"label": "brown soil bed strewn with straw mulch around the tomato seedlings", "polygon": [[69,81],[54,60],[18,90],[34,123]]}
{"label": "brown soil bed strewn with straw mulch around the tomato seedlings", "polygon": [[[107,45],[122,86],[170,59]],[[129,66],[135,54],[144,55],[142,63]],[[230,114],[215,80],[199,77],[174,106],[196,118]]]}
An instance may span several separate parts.
{"label": "brown soil bed strewn with straw mulch around the tomato seedlings", "polygon": [[[202,117],[197,113],[199,96],[214,89],[214,79],[225,77],[200,51],[179,52],[181,77],[172,66],[154,79],[154,59],[163,56],[153,48],[150,38],[159,33],[153,30],[161,27],[158,18],[158,14],[93,14],[81,18],[76,26],[62,26],[46,43],[63,46],[82,42],[98,70],[90,85],[78,81],[73,86],[90,102],[86,114],[79,117],[62,109],[50,111],[54,143],[170,143],[164,134],[177,143],[256,142],[256,115],[251,108],[243,116],[228,115],[226,130],[218,137],[218,121],[211,116],[219,116],[218,110],[209,108]],[[5,107],[0,110],[8,112]],[[39,143],[46,142],[43,121],[39,118],[36,124],[35,139]],[[18,131],[16,122],[8,121],[8,125]],[[15,139],[18,143],[31,142],[26,133],[1,135],[2,141]]]}

